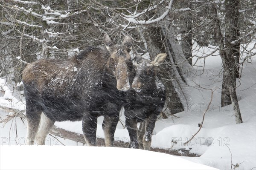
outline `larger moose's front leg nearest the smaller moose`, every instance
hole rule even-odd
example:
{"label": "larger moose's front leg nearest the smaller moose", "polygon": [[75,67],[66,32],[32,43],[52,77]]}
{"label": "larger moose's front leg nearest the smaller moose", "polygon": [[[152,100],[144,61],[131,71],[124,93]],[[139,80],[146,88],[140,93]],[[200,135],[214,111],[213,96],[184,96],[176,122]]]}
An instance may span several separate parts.
{"label": "larger moose's front leg nearest the smaller moose", "polygon": [[116,131],[116,125],[119,120],[119,115],[115,116],[105,116],[102,124],[102,128],[104,130],[105,135],[105,145],[106,147],[114,146],[114,134]]}

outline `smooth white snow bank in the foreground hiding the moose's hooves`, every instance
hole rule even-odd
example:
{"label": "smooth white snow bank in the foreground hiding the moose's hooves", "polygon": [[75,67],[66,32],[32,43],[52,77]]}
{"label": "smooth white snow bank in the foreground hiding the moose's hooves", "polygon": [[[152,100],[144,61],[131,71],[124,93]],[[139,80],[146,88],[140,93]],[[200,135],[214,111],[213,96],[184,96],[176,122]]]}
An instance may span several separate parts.
{"label": "smooth white snow bank in the foreground hiding the moose's hooves", "polygon": [[0,169],[215,170],[165,153],[117,147],[1,146]]}

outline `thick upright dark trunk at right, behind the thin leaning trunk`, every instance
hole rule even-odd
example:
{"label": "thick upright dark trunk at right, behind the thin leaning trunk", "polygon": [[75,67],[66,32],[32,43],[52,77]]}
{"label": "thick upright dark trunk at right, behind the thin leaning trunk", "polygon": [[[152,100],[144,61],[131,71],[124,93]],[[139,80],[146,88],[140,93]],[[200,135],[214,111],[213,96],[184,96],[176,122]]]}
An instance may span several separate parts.
{"label": "thick upright dark trunk at right, behind the thin leaning trunk", "polygon": [[226,0],[225,20],[225,53],[222,56],[223,62],[223,83],[221,91],[221,107],[231,104],[230,86],[236,93],[237,58],[239,59],[239,46],[235,43],[238,40],[238,15],[239,0]]}

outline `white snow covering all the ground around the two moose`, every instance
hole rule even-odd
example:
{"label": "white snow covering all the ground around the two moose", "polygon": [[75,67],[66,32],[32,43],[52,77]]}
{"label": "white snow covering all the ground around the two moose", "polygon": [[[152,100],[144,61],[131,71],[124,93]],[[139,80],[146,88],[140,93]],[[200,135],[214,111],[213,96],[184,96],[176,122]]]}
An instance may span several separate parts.
{"label": "white snow covering all the ground around the two moose", "polygon": [[[248,48],[252,46],[253,43],[248,46]],[[213,51],[214,49],[210,50]],[[202,52],[203,50],[201,49],[200,51]],[[209,49],[205,48],[204,51],[208,52]],[[254,49],[254,52],[255,51],[256,50]],[[208,165],[210,167],[215,167],[218,169],[230,169],[231,162],[234,165],[239,164],[239,167],[236,167],[236,169],[256,169],[256,58],[252,58],[251,63],[244,63],[241,80],[237,81],[238,87],[236,89],[236,92],[239,99],[239,107],[241,110],[243,123],[236,124],[232,106],[230,105],[227,107],[220,107],[222,83],[222,77],[220,73],[222,66],[221,58],[216,54],[214,54],[214,56],[198,60],[198,62],[195,64],[196,66],[194,66],[194,68],[197,69],[198,73],[201,73],[201,75],[186,75],[189,80],[193,80],[196,84],[200,84],[200,86],[204,87],[205,89],[198,88],[196,86],[188,86],[187,88],[185,88],[184,91],[187,95],[187,98],[189,99],[189,104],[187,105],[185,111],[175,114],[177,117],[170,117],[168,119],[158,120],[156,122],[156,126],[153,132],[154,135],[152,137],[151,147],[160,147],[166,149],[186,148],[188,150],[190,149],[190,153],[196,153],[198,155],[201,155],[200,157],[192,158],[184,156],[166,156],[166,154],[163,154],[163,156],[162,153],[152,153],[143,150],[129,150],[123,148],[105,147],[38,147],[35,151],[33,151],[35,147],[3,147],[2,145],[16,144],[16,129],[17,143],[19,145],[24,144],[24,137],[26,135],[26,122],[25,125],[23,125],[20,119],[17,118],[17,127],[15,127],[14,121],[10,121],[6,124],[5,127],[3,127],[3,125],[1,124],[1,168],[3,166],[3,162],[5,162],[7,158],[13,159],[17,156],[16,158],[21,157],[20,160],[24,160],[24,158],[26,157],[24,155],[29,152],[32,152],[29,153],[29,155],[32,155],[31,157],[33,157],[32,159],[34,161],[34,164],[42,164],[42,162],[38,162],[36,160],[38,155],[37,152],[40,152],[43,155],[49,155],[49,157],[47,157],[48,155],[44,157],[39,156],[39,158],[43,159],[43,162],[49,161],[50,163],[52,163],[52,159],[56,159],[57,162],[61,162],[60,164],[66,165],[67,162],[62,161],[61,158],[67,160],[65,159],[67,157],[64,156],[67,155],[68,158],[71,158],[73,162],[77,163],[74,163],[74,167],[69,167],[68,165],[60,165],[58,166],[60,167],[60,169],[81,169],[83,164],[87,164],[89,169],[95,169],[94,167],[90,167],[93,166],[93,164],[97,165],[97,169],[108,169],[111,168],[110,165],[108,165],[107,167],[103,166],[104,164],[108,164],[108,161],[114,162],[113,168],[117,169],[209,168],[200,167],[198,166],[198,164],[192,164],[190,162],[187,162],[186,160]],[[195,61],[195,58],[193,58],[193,62]],[[3,79],[1,79],[1,83],[4,83]],[[6,96],[9,98],[13,97],[11,93],[9,93],[7,86],[4,86],[4,84],[1,84],[1,86],[3,89],[6,89],[6,94],[0,97],[1,106],[6,105],[23,110],[25,105],[18,99],[13,99],[12,102],[10,100],[6,100]],[[211,98],[210,89],[215,89],[215,91],[213,93],[212,103],[209,107],[208,112],[205,115],[203,128],[195,136],[195,138],[189,142],[189,144],[184,146],[184,142],[189,140],[189,138],[198,131],[198,123],[201,123],[202,115]],[[19,103],[14,104],[17,101],[19,101]],[[1,115],[6,114],[9,113],[1,110]],[[124,124],[125,118],[123,112],[121,112],[120,114],[121,122]],[[104,137],[102,130],[102,121],[103,118],[99,117],[97,127],[98,137]],[[55,125],[76,133],[82,133],[81,121],[56,122]],[[123,128],[120,122],[116,129],[115,138],[116,140],[121,141],[129,140],[128,131]],[[65,145],[81,145],[76,144],[76,142],[70,140],[64,140],[60,138],[59,140]],[[61,143],[59,143],[52,136],[48,135],[46,145],[55,146],[61,145]],[[26,152],[26,150],[28,151]],[[111,156],[115,156],[118,161],[112,160],[112,157],[110,157],[109,154],[111,154]],[[79,155],[81,158],[78,158],[79,156],[77,155]],[[163,160],[161,159],[162,156]],[[81,160],[82,158],[84,158],[83,161]],[[143,158],[143,161],[140,161],[139,158]],[[137,167],[133,167],[132,160],[136,161]],[[19,163],[16,162],[17,161],[15,161],[15,164],[19,165]],[[159,167],[157,167],[157,165]],[[180,167],[178,165],[180,165]],[[186,165],[189,166],[185,167]],[[15,168],[16,165],[13,166],[13,168]],[[42,167],[42,169],[46,168],[43,165]],[[31,166],[31,168],[34,169],[36,167],[35,165],[33,165]],[[54,169],[55,167],[52,168]],[[232,167],[232,169],[233,168],[234,166]]]}

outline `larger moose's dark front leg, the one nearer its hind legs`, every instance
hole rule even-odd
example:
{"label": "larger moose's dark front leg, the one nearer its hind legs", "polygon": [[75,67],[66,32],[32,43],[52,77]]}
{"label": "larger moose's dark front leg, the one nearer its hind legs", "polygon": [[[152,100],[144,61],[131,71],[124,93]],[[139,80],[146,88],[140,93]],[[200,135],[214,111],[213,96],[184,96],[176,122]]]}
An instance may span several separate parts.
{"label": "larger moose's dark front leg, the one nearer its hind legs", "polygon": [[85,115],[82,119],[82,130],[87,146],[97,146],[97,116]]}

